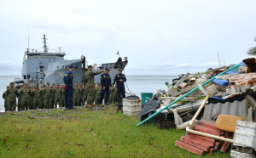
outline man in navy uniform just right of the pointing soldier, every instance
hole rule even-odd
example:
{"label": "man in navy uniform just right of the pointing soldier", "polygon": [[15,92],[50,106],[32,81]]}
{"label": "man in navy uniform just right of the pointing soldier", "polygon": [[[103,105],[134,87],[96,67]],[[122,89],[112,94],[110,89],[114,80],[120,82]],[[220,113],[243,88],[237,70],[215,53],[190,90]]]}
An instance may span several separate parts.
{"label": "man in navy uniform just right of the pointing soldier", "polygon": [[102,91],[98,105],[102,104],[102,100],[106,93],[106,100],[104,101],[108,105],[109,87],[111,86],[111,77],[109,76],[109,69],[105,69],[105,73],[101,75]]}

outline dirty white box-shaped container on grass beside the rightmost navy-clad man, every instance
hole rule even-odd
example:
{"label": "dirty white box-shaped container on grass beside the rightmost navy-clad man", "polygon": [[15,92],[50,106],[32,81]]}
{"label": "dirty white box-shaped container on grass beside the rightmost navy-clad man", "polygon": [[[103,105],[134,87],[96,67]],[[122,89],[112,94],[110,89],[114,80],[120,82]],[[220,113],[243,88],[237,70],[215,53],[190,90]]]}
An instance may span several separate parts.
{"label": "dirty white box-shaped container on grass beside the rightmost navy-clad man", "polygon": [[142,110],[142,99],[123,99],[125,116],[137,116]]}

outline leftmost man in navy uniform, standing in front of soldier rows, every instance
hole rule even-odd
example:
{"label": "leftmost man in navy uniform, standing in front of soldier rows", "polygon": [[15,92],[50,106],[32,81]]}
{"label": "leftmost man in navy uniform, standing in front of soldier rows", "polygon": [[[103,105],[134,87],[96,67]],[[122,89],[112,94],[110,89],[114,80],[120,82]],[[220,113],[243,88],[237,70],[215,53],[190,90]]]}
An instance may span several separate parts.
{"label": "leftmost man in navy uniform, standing in front of soldier rows", "polygon": [[73,99],[73,65],[69,65],[69,71],[65,73],[63,82],[65,84],[65,104],[68,110],[73,110],[72,99]]}

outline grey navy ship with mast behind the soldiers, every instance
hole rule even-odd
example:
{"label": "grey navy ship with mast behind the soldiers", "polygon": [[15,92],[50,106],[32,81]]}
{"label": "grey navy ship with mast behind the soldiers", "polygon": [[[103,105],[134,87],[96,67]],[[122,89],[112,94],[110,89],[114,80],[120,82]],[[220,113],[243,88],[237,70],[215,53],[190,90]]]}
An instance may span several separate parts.
{"label": "grey navy ship with mast behind the soldiers", "polygon": [[[63,83],[63,77],[66,71],[68,71],[68,66],[73,65],[73,82],[82,82],[84,72],[88,70],[88,61],[84,55],[81,55],[81,59],[64,59],[65,52],[58,48],[56,50],[50,50],[47,47],[46,35],[43,35],[43,49],[29,49],[26,48],[23,65],[21,71],[21,79],[19,82],[26,82],[29,86],[34,86],[36,83],[40,85],[49,82],[53,83]],[[118,73],[119,69],[125,69],[128,60],[127,57],[118,58],[116,62],[105,63],[105,64],[94,64],[92,71],[102,71],[105,68],[109,68],[109,75],[111,76],[112,82],[113,77]],[[100,82],[101,74],[95,76],[95,82]],[[17,84],[17,88],[19,88]]]}

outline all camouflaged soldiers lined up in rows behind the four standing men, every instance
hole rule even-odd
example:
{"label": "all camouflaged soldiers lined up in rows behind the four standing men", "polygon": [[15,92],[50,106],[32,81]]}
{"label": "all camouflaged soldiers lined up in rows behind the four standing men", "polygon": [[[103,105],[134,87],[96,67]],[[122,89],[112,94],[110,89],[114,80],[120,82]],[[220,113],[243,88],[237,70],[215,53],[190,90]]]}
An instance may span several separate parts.
{"label": "all camouflaged soldiers lined up in rows behind the four standing men", "polygon": [[[100,99],[100,94],[102,90],[102,85],[100,82],[94,84],[93,93],[90,97],[92,102],[98,104]],[[117,87],[110,87],[110,94],[108,96],[108,103],[114,104],[117,102]],[[3,93],[4,99],[4,109],[5,111],[15,111],[16,110],[16,98],[18,98],[18,110],[34,110],[34,109],[54,109],[59,107],[64,107],[65,88],[61,88],[60,84],[52,84],[49,87],[49,83],[46,86],[39,87],[28,87],[25,83],[20,90],[14,87],[14,82],[11,82],[6,91]],[[87,84],[75,82],[73,85],[73,106],[84,105],[88,98]],[[106,95],[104,97],[106,100]]]}

